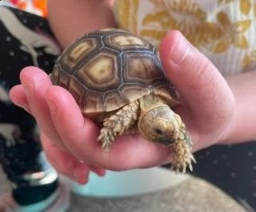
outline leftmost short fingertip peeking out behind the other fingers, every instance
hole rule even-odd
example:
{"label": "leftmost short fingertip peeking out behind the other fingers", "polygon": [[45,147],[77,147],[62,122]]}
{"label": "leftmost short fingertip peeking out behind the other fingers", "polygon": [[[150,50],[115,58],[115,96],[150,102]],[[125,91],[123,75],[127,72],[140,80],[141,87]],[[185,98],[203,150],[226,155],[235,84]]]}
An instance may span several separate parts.
{"label": "leftmost short fingertip peeking out behind the other fingers", "polygon": [[30,105],[26,99],[26,92],[24,91],[22,84],[15,85],[13,88],[11,88],[9,96],[10,100],[12,100],[14,104],[25,109],[26,112],[31,114]]}

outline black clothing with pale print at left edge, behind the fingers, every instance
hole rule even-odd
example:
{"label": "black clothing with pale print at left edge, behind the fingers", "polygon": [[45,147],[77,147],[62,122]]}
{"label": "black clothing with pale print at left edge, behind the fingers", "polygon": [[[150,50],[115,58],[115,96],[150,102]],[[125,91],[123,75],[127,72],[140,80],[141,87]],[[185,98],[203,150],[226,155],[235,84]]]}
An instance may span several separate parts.
{"label": "black clothing with pale print at left edge, behind the fingers", "polygon": [[20,83],[19,73],[26,66],[50,72],[60,53],[52,37],[45,19],[0,6],[0,163],[21,205],[47,198],[58,180],[31,186],[31,180],[26,179],[28,173],[46,173],[52,168],[42,154],[34,118],[12,104],[8,92]]}

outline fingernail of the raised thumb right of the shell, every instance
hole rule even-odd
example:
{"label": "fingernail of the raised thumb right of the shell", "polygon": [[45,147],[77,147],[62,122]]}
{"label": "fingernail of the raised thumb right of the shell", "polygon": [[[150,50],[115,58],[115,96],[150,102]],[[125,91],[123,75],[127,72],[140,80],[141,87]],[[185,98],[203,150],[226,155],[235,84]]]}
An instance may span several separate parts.
{"label": "fingernail of the raised thumb right of the shell", "polygon": [[180,64],[184,61],[187,55],[190,52],[190,43],[186,40],[186,38],[180,33],[178,41],[176,42],[176,46],[174,47],[171,53],[171,59],[175,64]]}

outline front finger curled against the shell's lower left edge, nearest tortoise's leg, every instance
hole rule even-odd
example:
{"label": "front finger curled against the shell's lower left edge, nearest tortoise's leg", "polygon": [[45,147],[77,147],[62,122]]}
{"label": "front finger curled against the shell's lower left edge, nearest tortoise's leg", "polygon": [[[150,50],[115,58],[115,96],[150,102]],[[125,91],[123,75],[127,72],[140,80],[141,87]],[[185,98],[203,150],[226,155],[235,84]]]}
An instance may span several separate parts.
{"label": "front finger curled against the shell's lower left edge, nearest tortoise's leg", "polygon": [[[84,159],[84,152],[79,151],[82,146],[88,147],[86,155],[89,159],[94,157],[91,148],[101,151],[101,147],[97,140],[98,128],[91,121],[82,116],[81,109],[65,88],[59,86],[52,86],[46,91],[46,101],[50,108],[51,119],[53,120],[54,128],[58,135],[65,143],[65,146],[78,159]],[[81,154],[78,154],[81,152]]]}

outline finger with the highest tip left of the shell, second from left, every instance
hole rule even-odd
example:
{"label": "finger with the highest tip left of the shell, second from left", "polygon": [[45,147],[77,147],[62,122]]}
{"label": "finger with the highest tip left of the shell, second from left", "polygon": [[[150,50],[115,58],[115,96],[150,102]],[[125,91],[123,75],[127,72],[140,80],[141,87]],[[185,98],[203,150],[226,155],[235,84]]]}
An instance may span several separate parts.
{"label": "finger with the highest tip left of the shell, second from left", "polygon": [[22,86],[26,92],[26,100],[30,111],[37,120],[39,128],[62,149],[63,145],[54,124],[52,123],[48,104],[45,100],[46,89],[52,86],[50,78],[41,69],[27,67],[20,73]]}

